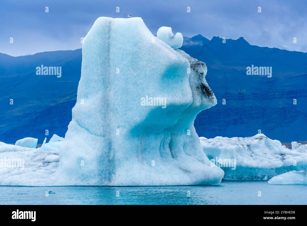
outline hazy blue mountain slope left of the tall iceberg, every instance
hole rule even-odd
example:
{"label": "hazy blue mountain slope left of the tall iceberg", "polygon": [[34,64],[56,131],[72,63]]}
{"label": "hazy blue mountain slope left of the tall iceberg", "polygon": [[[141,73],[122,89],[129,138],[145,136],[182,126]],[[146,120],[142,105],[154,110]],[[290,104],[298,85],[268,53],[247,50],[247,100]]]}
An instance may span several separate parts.
{"label": "hazy blue mountain slope left of the tall iceberg", "polygon": [[[0,54],[0,141],[36,137],[42,143],[53,133],[63,137],[76,104],[81,61],[81,49],[21,57]],[[61,66],[62,77],[36,75],[41,65]]]}

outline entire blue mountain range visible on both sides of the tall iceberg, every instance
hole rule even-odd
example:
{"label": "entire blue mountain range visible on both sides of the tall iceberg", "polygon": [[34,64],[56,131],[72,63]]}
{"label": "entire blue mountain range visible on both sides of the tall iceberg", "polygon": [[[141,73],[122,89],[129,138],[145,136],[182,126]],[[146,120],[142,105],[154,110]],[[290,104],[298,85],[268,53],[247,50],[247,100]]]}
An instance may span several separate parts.
{"label": "entire blue mountain range visible on both sides of the tall iceberg", "polygon": [[[206,80],[218,100],[196,117],[199,136],[247,137],[260,129],[271,139],[307,140],[306,53],[252,46],[244,38],[223,43],[222,38],[201,35],[185,37],[181,49],[207,64]],[[76,103],[81,61],[81,49],[0,54],[0,141],[36,137],[42,143],[54,133],[64,137]],[[272,77],[247,75],[252,64],[271,66]],[[62,77],[36,75],[41,65],[61,66]]]}

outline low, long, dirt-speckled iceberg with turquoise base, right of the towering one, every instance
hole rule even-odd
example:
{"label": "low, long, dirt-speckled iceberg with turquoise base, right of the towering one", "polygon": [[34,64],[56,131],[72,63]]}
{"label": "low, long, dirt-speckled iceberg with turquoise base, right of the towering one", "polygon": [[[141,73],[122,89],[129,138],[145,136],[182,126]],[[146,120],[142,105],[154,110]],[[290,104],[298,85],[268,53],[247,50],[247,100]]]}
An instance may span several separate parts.
{"label": "low, long, dirt-speckled iceberg with turquoise base, right of the towering one", "polygon": [[200,137],[200,143],[212,164],[221,166],[226,180],[267,180],[307,169],[307,153],[284,148],[280,141],[264,134],[245,138]]}

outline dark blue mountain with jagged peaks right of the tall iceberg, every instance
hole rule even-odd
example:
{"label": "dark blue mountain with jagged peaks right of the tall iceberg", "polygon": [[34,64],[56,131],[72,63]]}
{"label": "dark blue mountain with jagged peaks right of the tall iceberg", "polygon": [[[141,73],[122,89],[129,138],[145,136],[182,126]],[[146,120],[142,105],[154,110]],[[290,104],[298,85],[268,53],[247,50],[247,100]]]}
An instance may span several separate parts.
{"label": "dark blue mountain with jagged peaks right of the tall iceberg", "polygon": [[[260,129],[280,141],[307,140],[307,53],[252,46],[242,37],[222,41],[197,35],[181,48],[207,64],[218,100],[196,117],[198,135],[247,137]],[[271,66],[272,77],[247,75],[251,65]]]}

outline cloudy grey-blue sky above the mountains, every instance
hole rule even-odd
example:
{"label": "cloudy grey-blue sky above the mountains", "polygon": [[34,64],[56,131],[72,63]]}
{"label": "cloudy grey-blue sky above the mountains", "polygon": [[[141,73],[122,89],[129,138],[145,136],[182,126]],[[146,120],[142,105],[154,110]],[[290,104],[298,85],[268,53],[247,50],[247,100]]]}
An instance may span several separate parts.
{"label": "cloudy grey-blue sky above the mountains", "polygon": [[[45,7],[49,13],[45,13]],[[120,12],[116,13],[119,6]],[[187,13],[187,7],[191,12]],[[261,6],[261,13],[258,13]],[[307,1],[0,1],[0,52],[12,56],[81,48],[98,17],[142,17],[156,35],[161,26],[192,37],[201,34],[257,46],[307,52]],[[127,34],[129,36],[129,34]],[[14,43],[10,43],[10,37]],[[297,43],[293,43],[293,37]]]}

